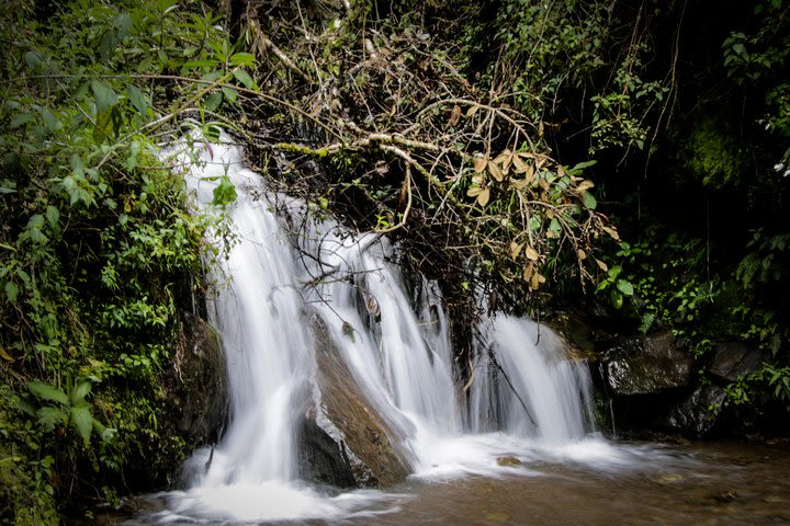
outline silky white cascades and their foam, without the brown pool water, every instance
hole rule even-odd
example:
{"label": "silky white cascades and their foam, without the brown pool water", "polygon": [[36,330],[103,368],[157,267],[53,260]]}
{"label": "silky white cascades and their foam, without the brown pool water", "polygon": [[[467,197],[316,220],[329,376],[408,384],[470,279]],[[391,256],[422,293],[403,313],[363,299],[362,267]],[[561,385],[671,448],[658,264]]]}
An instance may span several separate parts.
{"label": "silky white cascades and their foam, without the brown pool water", "polygon": [[[294,427],[320,403],[312,312],[397,433],[395,445],[417,476],[496,474],[509,469],[497,465],[500,456],[596,461],[612,455],[588,436],[586,367],[567,359],[545,327],[506,316],[484,320],[474,381],[463,392],[438,289],[417,277],[419,294],[411,297],[386,239],[306,219],[303,204],[266,192],[235,147],[212,145],[200,153],[203,162],[187,176],[198,207],[212,210],[223,174],[237,192],[228,211],[239,242],[215,271],[219,287],[208,301],[227,355],[230,424],[213,454],[195,453],[190,488],[166,494],[168,511],[157,521],[327,518],[365,513],[392,498],[370,491],[328,498],[297,479]],[[274,199],[289,210],[284,217],[273,211]],[[286,220],[298,226],[303,254],[292,247]]]}

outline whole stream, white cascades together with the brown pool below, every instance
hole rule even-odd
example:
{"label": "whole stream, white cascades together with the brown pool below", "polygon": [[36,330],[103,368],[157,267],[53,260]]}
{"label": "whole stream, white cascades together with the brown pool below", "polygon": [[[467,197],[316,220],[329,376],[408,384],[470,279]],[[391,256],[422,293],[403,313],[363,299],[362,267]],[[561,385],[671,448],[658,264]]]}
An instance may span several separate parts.
{"label": "whole stream, white cascades together with the brown pool below", "polygon": [[[195,206],[211,213],[223,176],[237,192],[227,211],[238,240],[207,301],[227,359],[229,425],[189,460],[185,489],[149,496],[155,508],[128,524],[790,524],[787,480],[757,492],[749,478],[790,472],[783,450],[753,454],[746,462],[764,469],[745,470],[716,450],[605,441],[586,365],[530,320],[481,322],[462,392],[441,296],[402,275],[396,248],[311,219],[227,141],[196,148],[201,162],[181,156]],[[321,405],[312,317],[399,436],[405,482],[338,492],[300,480],[297,421]]]}

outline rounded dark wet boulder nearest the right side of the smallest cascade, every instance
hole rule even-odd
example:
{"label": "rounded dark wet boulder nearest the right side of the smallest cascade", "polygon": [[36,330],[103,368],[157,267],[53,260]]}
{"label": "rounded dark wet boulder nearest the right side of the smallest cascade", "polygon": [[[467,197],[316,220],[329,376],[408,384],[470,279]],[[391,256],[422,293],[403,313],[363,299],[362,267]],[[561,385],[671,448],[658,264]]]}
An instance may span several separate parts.
{"label": "rounded dark wet boulder nearest the right side of the smallest cascade", "polygon": [[602,361],[614,396],[654,395],[689,385],[693,361],[669,332],[633,338],[610,348]]}

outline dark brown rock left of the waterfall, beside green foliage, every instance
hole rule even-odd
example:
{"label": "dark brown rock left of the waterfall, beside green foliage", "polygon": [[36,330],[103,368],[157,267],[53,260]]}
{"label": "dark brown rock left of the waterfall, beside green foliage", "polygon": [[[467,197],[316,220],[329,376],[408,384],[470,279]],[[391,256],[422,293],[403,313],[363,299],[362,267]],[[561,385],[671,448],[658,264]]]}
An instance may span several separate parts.
{"label": "dark brown rock left of the waterfall, beside green foliage", "polygon": [[225,354],[216,331],[194,315],[182,317],[171,376],[169,402],[180,415],[178,431],[195,446],[215,444],[227,419]]}

